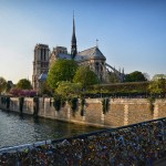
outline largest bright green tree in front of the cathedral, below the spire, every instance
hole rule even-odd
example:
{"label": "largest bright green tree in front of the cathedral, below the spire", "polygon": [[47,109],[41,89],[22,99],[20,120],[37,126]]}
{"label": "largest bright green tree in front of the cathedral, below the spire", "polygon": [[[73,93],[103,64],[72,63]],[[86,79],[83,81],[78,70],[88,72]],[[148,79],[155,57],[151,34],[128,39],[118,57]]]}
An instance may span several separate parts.
{"label": "largest bright green tree in front of the cathedral, below the spire", "polygon": [[58,87],[58,83],[61,81],[72,81],[75,71],[77,69],[77,64],[73,60],[58,60],[54,62],[52,68],[49,71],[48,75],[48,84],[51,89],[55,90]]}

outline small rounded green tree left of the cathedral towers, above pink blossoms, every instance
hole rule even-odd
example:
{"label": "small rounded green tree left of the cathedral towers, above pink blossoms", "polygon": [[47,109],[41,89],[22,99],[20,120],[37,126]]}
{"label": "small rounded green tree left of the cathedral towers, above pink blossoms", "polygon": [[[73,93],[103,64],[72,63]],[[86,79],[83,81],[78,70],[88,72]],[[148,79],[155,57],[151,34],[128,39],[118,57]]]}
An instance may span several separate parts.
{"label": "small rounded green tree left of the cathedral towers, above pink blossoms", "polygon": [[32,90],[31,82],[28,79],[21,79],[17,83],[17,89],[20,90]]}

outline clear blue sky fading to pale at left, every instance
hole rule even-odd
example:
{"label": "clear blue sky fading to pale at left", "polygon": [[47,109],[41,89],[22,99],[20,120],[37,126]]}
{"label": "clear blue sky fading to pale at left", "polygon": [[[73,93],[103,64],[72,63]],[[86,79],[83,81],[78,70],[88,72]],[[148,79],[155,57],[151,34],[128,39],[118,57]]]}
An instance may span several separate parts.
{"label": "clear blue sky fading to pale at left", "polygon": [[0,0],[0,76],[31,80],[37,43],[70,51],[73,10],[79,51],[98,39],[112,66],[166,74],[165,0]]}

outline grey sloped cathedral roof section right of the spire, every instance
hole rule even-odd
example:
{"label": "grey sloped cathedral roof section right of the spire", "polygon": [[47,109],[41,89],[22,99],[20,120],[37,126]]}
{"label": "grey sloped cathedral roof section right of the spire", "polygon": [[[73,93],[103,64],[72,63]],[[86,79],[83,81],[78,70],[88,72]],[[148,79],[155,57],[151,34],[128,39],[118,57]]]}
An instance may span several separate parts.
{"label": "grey sloped cathedral roof section right of the spire", "polygon": [[86,60],[86,59],[104,59],[105,60],[105,56],[103,55],[103,53],[100,51],[97,46],[81,51],[77,53],[76,56],[82,56],[82,60]]}

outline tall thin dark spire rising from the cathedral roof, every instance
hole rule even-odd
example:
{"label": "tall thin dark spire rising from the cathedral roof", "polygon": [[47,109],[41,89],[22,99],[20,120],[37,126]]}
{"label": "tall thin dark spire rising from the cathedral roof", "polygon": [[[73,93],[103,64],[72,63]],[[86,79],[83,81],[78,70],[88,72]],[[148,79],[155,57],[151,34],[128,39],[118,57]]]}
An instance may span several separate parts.
{"label": "tall thin dark spire rising from the cathedral roof", "polygon": [[72,34],[72,43],[71,43],[72,59],[74,59],[76,54],[77,54],[77,49],[76,49],[76,37],[75,37],[75,20],[74,20],[74,12],[73,12],[73,34]]}

